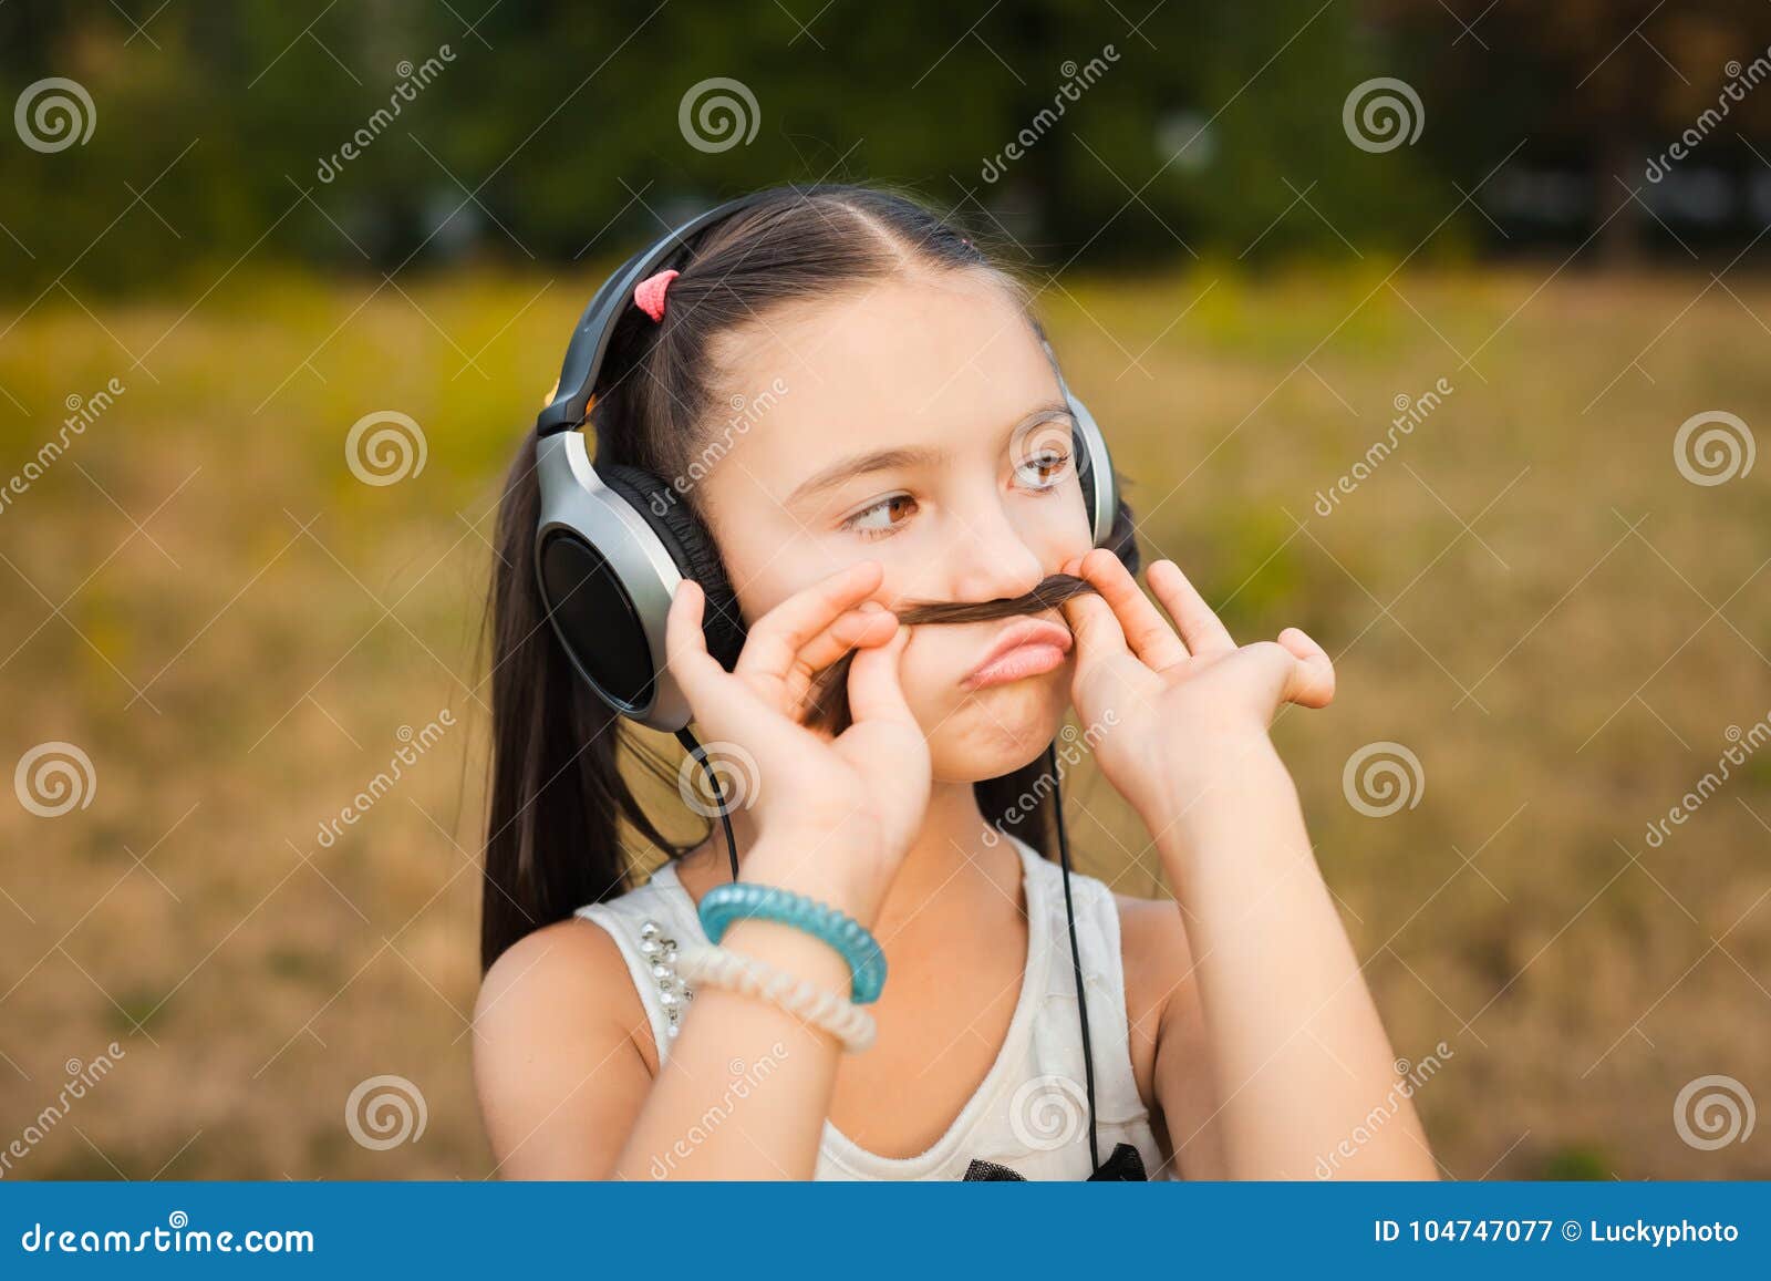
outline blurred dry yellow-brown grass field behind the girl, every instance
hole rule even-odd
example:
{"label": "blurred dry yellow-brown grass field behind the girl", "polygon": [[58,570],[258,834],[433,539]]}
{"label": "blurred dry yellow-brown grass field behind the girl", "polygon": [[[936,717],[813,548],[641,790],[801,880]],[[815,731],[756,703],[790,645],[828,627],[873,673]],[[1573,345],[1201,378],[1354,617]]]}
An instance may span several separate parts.
{"label": "blurred dry yellow-brown grass field behind the girl", "polygon": [[[1697,485],[1672,448],[1700,411],[1771,423],[1771,283],[1387,273],[1208,262],[1041,301],[1146,555],[1238,638],[1296,624],[1337,659],[1335,705],[1275,734],[1397,1054],[1452,1052],[1419,1095],[1447,1173],[1771,1176],[1764,1132],[1700,1150],[1674,1125],[1707,1074],[1771,1104],[1771,753],[1643,842],[1771,712],[1766,468]],[[67,741],[97,780],[66,817],[0,806],[0,1146],[67,1060],[126,1051],[7,1176],[489,1173],[487,539],[597,278],[243,271],[103,322],[62,291],[0,307],[0,484],[67,397],[126,388],[0,510],[0,760]],[[381,409],[427,455],[374,487],[344,443]],[[457,726],[322,845],[443,709]],[[1380,741],[1424,790],[1373,819],[1342,769]],[[1071,796],[1082,868],[1162,893],[1105,783]],[[345,1127],[379,1074],[427,1106],[386,1152]]]}

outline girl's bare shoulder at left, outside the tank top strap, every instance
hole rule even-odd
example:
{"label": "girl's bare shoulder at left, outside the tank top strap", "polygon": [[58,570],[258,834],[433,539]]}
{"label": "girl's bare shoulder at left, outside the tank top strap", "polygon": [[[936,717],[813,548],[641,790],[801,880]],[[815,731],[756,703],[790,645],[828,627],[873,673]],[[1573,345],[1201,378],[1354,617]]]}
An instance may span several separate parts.
{"label": "girl's bare shoulder at left, outside the tank top strap", "polygon": [[[487,1137],[510,1176],[593,1178],[615,1161],[657,1070],[645,1006],[607,930],[542,927],[487,971],[473,1013],[473,1067]],[[593,1141],[600,1132],[602,1139]]]}

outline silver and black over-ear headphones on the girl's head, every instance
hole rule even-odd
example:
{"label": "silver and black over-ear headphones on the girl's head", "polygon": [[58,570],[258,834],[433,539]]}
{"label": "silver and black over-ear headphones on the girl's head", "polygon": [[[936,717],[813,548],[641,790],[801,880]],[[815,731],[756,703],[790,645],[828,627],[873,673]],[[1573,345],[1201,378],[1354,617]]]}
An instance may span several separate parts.
{"label": "silver and black over-ear headphones on the girl's head", "polygon": [[[579,317],[560,386],[535,420],[542,493],[535,574],[547,618],[604,703],[669,734],[691,719],[689,702],[664,666],[664,620],[677,585],[692,578],[707,592],[707,650],[728,672],[744,647],[739,602],[712,535],[671,482],[643,468],[593,462],[577,427],[595,397],[615,322],[634,305],[634,287],[687,250],[696,232],[765,198],[779,197],[760,191],[708,209],[609,276]],[[1050,344],[1045,351],[1052,356]],[[1094,546],[1107,546],[1119,512],[1107,438],[1061,372],[1057,384],[1075,423],[1071,455]]]}

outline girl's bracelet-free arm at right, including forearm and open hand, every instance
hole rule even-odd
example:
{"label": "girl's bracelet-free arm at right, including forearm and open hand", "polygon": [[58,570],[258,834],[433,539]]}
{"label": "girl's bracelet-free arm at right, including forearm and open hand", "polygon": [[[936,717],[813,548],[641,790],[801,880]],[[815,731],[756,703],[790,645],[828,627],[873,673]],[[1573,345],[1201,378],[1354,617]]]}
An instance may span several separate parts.
{"label": "girl's bracelet-free arm at right, including forearm and open hand", "polygon": [[[1110,726],[1102,769],[1149,827],[1190,923],[1192,964],[1176,974],[1190,999],[1167,1003],[1156,1051],[1176,1150],[1203,1139],[1188,1171],[1311,1178],[1332,1161],[1341,1175],[1435,1178],[1268,739],[1280,703],[1334,696],[1328,656],[1296,629],[1236,647],[1172,562],[1149,578],[1178,633],[1110,553],[1077,569],[1100,592],[1064,606],[1077,709]],[[1337,1155],[1362,1127],[1371,1139]]]}

